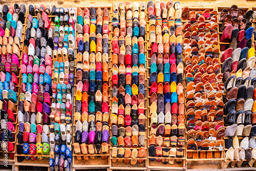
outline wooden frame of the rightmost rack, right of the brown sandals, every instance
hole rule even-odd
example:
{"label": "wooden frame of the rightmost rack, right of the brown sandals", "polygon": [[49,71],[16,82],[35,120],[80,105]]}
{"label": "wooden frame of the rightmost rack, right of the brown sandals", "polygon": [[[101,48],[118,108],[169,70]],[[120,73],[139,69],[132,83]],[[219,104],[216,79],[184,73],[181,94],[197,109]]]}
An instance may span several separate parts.
{"label": "wooden frame of the rightmost rack, right of the brown sandals", "polygon": [[[244,11],[245,12],[247,12],[248,10],[250,10],[250,9],[252,9],[252,10],[255,10],[256,8],[253,8],[253,7],[239,7],[239,8],[242,8],[242,9],[244,9]],[[223,9],[227,9],[228,10],[228,12],[229,12],[229,9],[230,9],[230,7],[216,7],[216,10],[218,11],[218,18],[220,18],[220,14],[221,14],[221,11],[223,10]],[[218,36],[219,36],[219,38],[218,38],[218,40],[219,40],[219,45],[230,45],[230,42],[220,42],[220,38],[221,38],[221,36],[222,36],[222,31],[221,31],[221,26],[222,26],[222,22],[219,22],[219,20],[218,20],[218,24],[219,24],[219,28],[218,28]],[[255,20],[252,20],[252,26],[253,27],[255,27],[256,26],[256,21]],[[254,41],[254,34],[253,34],[253,36],[252,36],[252,47],[254,47],[254,43],[255,43],[255,41]],[[227,47],[228,48],[228,47]],[[226,48],[226,49],[227,49]],[[223,52],[225,52],[225,51],[221,51],[220,50],[220,54],[222,55],[223,54]],[[220,59],[221,59],[221,55],[220,55]],[[222,63],[221,63],[222,64]],[[255,66],[255,64],[254,64],[254,66]],[[223,94],[223,99],[225,99],[225,97],[226,97],[226,94]],[[226,115],[223,115],[223,120],[225,120],[225,117],[226,117]],[[225,126],[225,128],[226,128],[227,126]],[[228,139],[229,137],[224,137],[224,141],[226,141],[227,139]],[[243,138],[244,137],[242,137],[242,136],[240,136],[240,137],[238,137],[239,138],[239,143],[243,140]],[[248,138],[251,138],[251,137],[248,137]],[[239,148],[239,151],[241,150],[242,148]],[[252,149],[252,148],[251,148]],[[228,148],[225,148],[225,143],[224,143],[224,150],[225,150],[225,152],[227,152],[227,150],[228,150]],[[225,155],[225,153],[224,153],[224,155]],[[224,157],[224,159],[225,159],[225,157]],[[252,159],[253,160],[253,159]],[[237,160],[233,160],[233,161],[237,161]],[[244,160],[244,161],[248,161],[248,160]],[[231,161],[232,162],[232,161]],[[231,167],[230,166],[230,160],[227,160],[227,159],[225,159],[224,160],[224,169],[225,170],[255,170],[255,167],[256,167],[256,164],[254,163],[254,165],[253,165],[253,167],[250,167],[248,164],[246,165],[246,167],[243,167],[243,166],[241,166],[241,167],[238,167],[237,165],[235,165],[234,167]]]}

